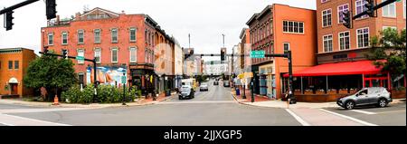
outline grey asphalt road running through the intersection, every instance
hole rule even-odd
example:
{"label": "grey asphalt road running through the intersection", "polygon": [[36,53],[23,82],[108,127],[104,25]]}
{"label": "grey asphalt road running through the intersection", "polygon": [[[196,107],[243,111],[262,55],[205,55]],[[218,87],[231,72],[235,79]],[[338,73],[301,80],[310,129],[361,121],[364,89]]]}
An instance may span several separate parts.
{"label": "grey asphalt road running through the intersection", "polygon": [[231,89],[209,82],[209,91],[197,91],[192,100],[173,97],[154,105],[103,109],[33,108],[0,104],[0,126],[301,126],[402,125],[405,102],[388,108],[358,110],[277,109],[241,105]]}

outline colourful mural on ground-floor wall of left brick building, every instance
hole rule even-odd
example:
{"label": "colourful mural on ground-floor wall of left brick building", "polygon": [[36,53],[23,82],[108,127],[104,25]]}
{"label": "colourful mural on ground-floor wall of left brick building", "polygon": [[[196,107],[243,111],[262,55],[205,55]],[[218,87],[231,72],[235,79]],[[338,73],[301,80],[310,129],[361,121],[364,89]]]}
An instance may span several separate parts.
{"label": "colourful mural on ground-floor wall of left brick building", "polygon": [[[125,67],[97,67],[96,68],[97,81],[102,85],[116,85],[121,83],[121,77],[125,73],[126,80],[128,80],[128,73]],[[86,82],[93,83],[93,67],[89,67],[86,72]],[[117,83],[116,83],[117,82]],[[126,82],[127,83],[127,82]]]}

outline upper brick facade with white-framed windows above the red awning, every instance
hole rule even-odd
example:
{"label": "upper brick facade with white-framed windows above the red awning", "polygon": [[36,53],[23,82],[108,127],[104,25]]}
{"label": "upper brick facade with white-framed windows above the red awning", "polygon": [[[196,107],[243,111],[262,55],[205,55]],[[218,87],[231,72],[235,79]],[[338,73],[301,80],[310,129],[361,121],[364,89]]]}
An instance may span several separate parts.
{"label": "upper brick facade with white-framed windows above the red awning", "polygon": [[[385,0],[377,0],[382,3]],[[405,29],[405,0],[384,6],[377,11],[377,17],[368,15],[353,21],[353,28],[343,25],[343,14],[353,15],[364,12],[366,0],[317,0],[317,63],[349,62],[366,60],[370,38],[379,35],[383,29]]]}

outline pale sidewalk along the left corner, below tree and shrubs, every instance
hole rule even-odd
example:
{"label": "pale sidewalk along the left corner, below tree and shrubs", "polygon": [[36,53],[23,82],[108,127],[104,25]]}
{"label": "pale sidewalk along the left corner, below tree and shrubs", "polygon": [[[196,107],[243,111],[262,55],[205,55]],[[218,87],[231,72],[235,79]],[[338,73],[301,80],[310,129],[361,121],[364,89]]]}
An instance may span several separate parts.
{"label": "pale sidewalk along the left corner, below tree and shrubs", "polygon": [[[175,94],[166,97],[164,94],[159,95],[156,98],[156,101],[153,101],[153,98],[149,97],[146,100],[127,102],[126,106],[144,106],[150,104],[156,104],[161,101],[166,101],[173,97]],[[48,108],[109,108],[109,107],[123,107],[122,103],[90,103],[90,104],[75,104],[75,103],[63,103],[60,102],[60,105],[54,106],[53,102],[42,102],[42,101],[23,101],[22,99],[0,99],[0,103],[3,104],[16,104],[23,106],[33,106],[33,107],[48,107]]]}

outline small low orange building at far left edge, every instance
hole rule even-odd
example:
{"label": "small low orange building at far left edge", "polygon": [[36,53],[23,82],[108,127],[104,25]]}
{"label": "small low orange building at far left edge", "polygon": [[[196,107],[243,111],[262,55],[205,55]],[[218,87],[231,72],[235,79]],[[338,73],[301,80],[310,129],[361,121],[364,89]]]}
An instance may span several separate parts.
{"label": "small low orange building at far left edge", "polygon": [[33,96],[33,90],[24,87],[24,73],[36,58],[33,50],[25,48],[0,49],[0,99],[2,96]]}

